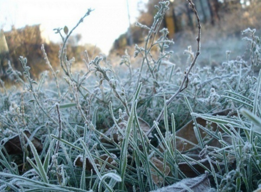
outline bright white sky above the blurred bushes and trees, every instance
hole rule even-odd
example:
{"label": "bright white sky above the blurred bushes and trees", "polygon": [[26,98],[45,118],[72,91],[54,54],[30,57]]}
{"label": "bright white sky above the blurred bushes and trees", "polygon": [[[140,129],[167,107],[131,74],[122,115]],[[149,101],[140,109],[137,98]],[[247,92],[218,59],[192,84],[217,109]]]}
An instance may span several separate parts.
{"label": "bright white sky above the blurred bushes and trees", "polygon": [[[131,22],[138,16],[139,0],[129,0]],[[147,2],[143,0],[142,2]],[[53,29],[72,29],[88,8],[95,9],[72,35],[82,34],[81,44],[96,44],[107,54],[114,40],[129,26],[127,0],[0,0],[0,28],[5,31],[43,24],[49,39],[59,42]]]}

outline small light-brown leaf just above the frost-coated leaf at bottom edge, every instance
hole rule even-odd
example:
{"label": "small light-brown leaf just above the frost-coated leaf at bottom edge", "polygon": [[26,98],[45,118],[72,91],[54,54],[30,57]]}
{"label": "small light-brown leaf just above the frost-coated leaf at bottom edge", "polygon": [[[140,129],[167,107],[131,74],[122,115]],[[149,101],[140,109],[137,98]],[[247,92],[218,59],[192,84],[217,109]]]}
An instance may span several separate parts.
{"label": "small light-brown leaf just above the frost-coated leaf at bottom edge", "polygon": [[[158,168],[158,170],[160,170],[160,172],[162,172],[165,175],[169,174],[169,172],[170,172],[169,166],[165,165],[165,170],[164,170],[164,163],[162,161],[153,157],[153,158],[151,158],[151,162]],[[151,170],[151,172],[155,172],[155,170],[153,168],[151,168],[150,170]],[[163,182],[162,176],[156,175],[156,174],[152,174],[152,180],[156,185]]]}

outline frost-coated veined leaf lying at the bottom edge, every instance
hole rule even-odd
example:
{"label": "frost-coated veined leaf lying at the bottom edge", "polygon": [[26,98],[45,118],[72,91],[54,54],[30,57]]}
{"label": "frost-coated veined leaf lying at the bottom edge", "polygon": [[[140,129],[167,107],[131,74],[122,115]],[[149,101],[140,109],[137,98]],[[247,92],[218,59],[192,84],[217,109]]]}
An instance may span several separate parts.
{"label": "frost-coated veined leaf lying at the bottom edge", "polygon": [[177,182],[173,185],[162,187],[158,190],[154,190],[151,192],[186,192],[186,191],[194,191],[194,192],[207,192],[211,189],[210,182],[207,174],[202,174],[195,178],[185,178],[180,182]]}

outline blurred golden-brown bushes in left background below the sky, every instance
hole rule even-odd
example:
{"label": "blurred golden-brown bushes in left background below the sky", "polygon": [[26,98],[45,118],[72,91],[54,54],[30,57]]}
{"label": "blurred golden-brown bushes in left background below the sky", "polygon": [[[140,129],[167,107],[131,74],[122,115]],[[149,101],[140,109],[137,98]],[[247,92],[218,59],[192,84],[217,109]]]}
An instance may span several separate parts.
{"label": "blurred golden-brown bushes in left background below the sky", "polygon": [[[48,42],[41,37],[40,25],[25,26],[22,29],[15,29],[14,27],[10,32],[5,33],[6,42],[9,48],[9,60],[15,70],[23,71],[19,57],[26,57],[28,60],[28,66],[31,68],[30,74],[33,79],[39,78],[39,75],[48,70],[45,59],[41,51],[41,45],[44,44],[46,53],[49,57],[49,61],[54,69],[60,68],[60,61],[58,52],[60,44]],[[68,58],[72,58],[75,55],[76,63],[82,63],[84,58],[84,51],[88,50],[88,53],[93,57],[97,56],[101,50],[93,45],[84,46],[67,46]],[[5,73],[5,72],[3,72]],[[5,75],[1,76],[3,80],[6,80]]]}

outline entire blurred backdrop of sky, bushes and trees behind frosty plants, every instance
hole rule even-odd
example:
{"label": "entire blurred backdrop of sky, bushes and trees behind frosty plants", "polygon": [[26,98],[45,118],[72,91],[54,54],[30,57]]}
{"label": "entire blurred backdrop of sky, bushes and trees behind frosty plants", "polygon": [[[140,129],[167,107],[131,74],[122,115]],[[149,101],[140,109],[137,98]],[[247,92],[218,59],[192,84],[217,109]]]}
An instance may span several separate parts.
{"label": "entire blurred backdrop of sky, bushes and trees behind frosty plants", "polygon": [[[104,54],[113,66],[128,51],[133,56],[134,45],[142,45],[147,30],[135,22],[151,26],[160,0],[0,0],[0,78],[7,80],[8,61],[14,69],[22,71],[19,56],[26,57],[33,78],[47,70],[41,45],[52,66],[59,69],[58,52],[61,37],[54,28],[68,26],[71,30],[88,8],[94,11],[74,31],[68,40],[68,59],[75,57],[80,65],[84,50],[94,58]],[[220,65],[226,59],[244,57],[246,46],[241,31],[255,28],[260,35],[260,0],[194,0],[202,23],[202,44],[199,64]],[[174,51],[170,60],[177,64],[186,62],[182,53],[191,45],[196,50],[197,22],[185,0],[171,0],[161,28],[169,30]],[[65,37],[65,34],[63,34]]]}

